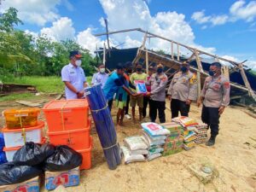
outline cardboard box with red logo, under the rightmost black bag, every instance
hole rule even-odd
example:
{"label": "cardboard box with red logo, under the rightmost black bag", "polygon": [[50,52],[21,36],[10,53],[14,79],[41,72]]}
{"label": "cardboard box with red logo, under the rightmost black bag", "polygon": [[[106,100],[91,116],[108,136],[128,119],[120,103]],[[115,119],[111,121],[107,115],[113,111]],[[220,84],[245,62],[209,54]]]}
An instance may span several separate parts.
{"label": "cardboard box with red logo, under the rightmost black bag", "polygon": [[56,189],[59,185],[64,187],[77,186],[80,183],[80,170],[76,167],[64,172],[45,172],[45,189]]}

